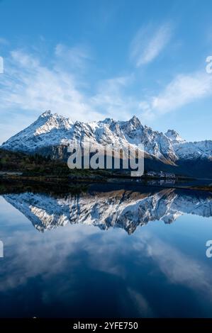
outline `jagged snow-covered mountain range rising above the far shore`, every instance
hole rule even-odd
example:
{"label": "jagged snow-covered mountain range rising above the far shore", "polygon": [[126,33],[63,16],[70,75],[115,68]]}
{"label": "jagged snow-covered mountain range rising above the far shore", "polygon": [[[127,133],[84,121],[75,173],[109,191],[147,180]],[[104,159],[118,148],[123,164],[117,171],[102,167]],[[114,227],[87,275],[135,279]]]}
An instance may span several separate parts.
{"label": "jagged snow-covered mountain range rising above the far shore", "polygon": [[[152,130],[140,123],[133,116],[128,121],[115,121],[111,118],[91,123],[82,123],[52,114],[46,111],[32,125],[11,137],[1,145],[3,149],[21,151],[26,153],[50,155],[55,159],[67,159],[67,145],[80,144],[82,141],[99,147],[135,147],[143,144],[145,158],[148,159],[147,169],[152,169],[152,164],[162,162],[171,166],[180,166],[178,169],[164,169],[178,174],[212,176],[212,141],[186,142],[174,130],[165,134]],[[188,163],[201,164],[192,168]],[[204,164],[206,163],[206,166]],[[161,165],[156,164],[155,169]],[[153,168],[154,169],[154,168]],[[195,172],[192,174],[192,170]],[[199,175],[200,176],[200,175]]]}

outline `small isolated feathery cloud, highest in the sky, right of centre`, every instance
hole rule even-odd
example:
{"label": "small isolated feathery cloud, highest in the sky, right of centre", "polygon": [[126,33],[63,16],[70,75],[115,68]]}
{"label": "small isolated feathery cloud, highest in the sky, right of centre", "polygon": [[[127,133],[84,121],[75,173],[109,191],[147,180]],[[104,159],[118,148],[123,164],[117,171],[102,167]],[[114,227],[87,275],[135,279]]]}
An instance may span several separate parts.
{"label": "small isolated feathery cloud, highest in the sky, right of centre", "polygon": [[130,58],[136,67],[152,62],[162,52],[172,35],[172,25],[145,26],[138,30],[130,45]]}

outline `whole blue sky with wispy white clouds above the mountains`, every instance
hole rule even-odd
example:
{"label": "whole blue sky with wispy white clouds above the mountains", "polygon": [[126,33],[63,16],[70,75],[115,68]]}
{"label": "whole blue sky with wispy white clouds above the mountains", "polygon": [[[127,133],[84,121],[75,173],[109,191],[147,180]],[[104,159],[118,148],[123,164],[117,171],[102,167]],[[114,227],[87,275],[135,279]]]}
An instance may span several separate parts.
{"label": "whole blue sky with wispy white clouds above the mountains", "polygon": [[50,109],[212,139],[211,0],[0,0],[0,142]]}

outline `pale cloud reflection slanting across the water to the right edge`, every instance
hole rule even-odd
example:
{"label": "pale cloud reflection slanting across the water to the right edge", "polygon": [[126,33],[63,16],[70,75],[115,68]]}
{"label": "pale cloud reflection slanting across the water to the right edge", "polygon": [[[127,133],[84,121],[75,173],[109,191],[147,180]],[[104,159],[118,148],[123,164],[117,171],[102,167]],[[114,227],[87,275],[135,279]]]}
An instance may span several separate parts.
{"label": "pale cloud reflection slanting across the water to the right edge", "polygon": [[144,255],[151,258],[170,283],[184,285],[195,293],[205,293],[211,300],[211,277],[207,265],[148,231],[143,232],[139,240],[135,249],[141,254],[141,262]]}

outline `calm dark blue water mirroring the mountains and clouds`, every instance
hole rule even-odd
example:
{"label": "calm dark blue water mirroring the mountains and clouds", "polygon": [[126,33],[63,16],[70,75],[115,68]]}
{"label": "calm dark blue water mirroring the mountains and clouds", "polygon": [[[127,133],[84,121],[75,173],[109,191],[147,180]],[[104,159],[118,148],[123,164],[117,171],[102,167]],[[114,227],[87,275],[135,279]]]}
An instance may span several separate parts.
{"label": "calm dark blue water mirroring the mountains and clouds", "polygon": [[25,191],[0,209],[1,317],[211,317],[211,193]]}

